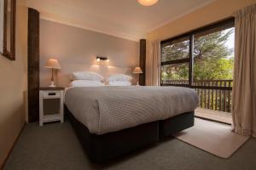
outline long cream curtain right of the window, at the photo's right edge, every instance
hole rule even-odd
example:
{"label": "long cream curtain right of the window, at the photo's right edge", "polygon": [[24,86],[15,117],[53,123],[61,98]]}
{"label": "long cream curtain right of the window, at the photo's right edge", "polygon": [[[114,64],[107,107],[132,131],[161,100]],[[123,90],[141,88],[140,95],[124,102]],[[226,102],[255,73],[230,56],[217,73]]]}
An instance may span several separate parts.
{"label": "long cream curtain right of the window, at the photo's right edge", "polygon": [[256,4],[234,15],[233,122],[236,133],[256,137]]}

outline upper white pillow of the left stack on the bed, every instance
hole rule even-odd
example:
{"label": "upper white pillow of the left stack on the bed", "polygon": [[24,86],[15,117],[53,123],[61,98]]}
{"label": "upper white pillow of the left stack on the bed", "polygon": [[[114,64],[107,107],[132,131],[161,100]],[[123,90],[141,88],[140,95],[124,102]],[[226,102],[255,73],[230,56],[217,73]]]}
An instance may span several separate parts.
{"label": "upper white pillow of the left stack on the bed", "polygon": [[70,80],[93,80],[93,81],[103,80],[102,75],[99,75],[96,72],[91,72],[91,71],[73,72],[69,78]]}

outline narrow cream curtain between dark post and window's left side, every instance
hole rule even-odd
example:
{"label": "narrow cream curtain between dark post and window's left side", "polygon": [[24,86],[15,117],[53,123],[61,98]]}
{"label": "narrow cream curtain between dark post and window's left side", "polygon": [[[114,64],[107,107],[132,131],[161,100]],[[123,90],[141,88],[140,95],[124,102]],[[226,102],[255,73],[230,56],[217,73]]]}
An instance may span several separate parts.
{"label": "narrow cream curtain between dark post and window's left side", "polygon": [[146,85],[160,85],[160,42],[147,42]]}

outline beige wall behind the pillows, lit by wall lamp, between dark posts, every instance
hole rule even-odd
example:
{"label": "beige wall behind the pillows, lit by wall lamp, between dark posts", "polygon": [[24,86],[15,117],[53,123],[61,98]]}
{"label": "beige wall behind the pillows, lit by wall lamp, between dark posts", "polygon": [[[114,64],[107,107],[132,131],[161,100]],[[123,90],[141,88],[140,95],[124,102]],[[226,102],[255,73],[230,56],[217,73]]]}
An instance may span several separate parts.
{"label": "beige wall behind the pillows, lit by wall lamp, between dark posts", "polygon": [[[131,68],[139,63],[138,50],[138,42],[40,20],[40,84],[49,85],[50,70],[44,64],[51,57],[58,59],[62,68],[58,71],[57,84],[67,87],[68,76],[73,71],[96,71],[103,77],[113,73],[131,74]],[[108,65],[106,62],[99,65],[97,55],[107,56]]]}

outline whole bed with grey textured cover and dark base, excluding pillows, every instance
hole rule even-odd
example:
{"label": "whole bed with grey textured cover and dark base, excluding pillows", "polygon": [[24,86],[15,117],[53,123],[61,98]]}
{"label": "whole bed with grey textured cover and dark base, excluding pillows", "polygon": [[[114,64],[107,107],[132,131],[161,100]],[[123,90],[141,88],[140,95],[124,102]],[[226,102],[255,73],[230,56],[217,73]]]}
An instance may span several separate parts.
{"label": "whole bed with grey textured cover and dark base, excluding pillows", "polygon": [[197,105],[190,88],[76,87],[65,94],[65,111],[96,163],[192,127]]}

